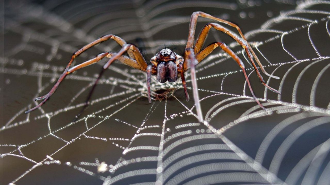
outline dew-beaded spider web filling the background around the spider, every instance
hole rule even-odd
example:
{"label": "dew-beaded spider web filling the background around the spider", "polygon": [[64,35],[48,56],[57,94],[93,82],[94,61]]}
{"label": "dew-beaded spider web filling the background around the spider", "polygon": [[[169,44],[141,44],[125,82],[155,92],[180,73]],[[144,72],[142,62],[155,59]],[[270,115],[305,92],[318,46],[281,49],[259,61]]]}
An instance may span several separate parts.
{"label": "dew-beaded spider web filling the background around the spider", "polygon": [[[5,2],[2,183],[329,184],[329,8],[329,1],[285,0]],[[146,74],[120,63],[105,72],[83,110],[106,61],[68,75],[44,106],[24,114],[72,53],[99,36],[118,35],[147,59],[163,47],[182,54],[194,11],[237,23],[266,71],[280,77],[263,75],[281,95],[267,91],[242,48],[210,32],[207,44],[224,41],[245,59],[268,111],[251,98],[237,64],[215,50],[196,66],[204,123],[180,81],[152,79],[154,95],[167,97],[149,104]],[[196,32],[207,22],[199,18]],[[119,49],[102,43],[76,64]],[[186,79],[192,97],[189,72]]]}

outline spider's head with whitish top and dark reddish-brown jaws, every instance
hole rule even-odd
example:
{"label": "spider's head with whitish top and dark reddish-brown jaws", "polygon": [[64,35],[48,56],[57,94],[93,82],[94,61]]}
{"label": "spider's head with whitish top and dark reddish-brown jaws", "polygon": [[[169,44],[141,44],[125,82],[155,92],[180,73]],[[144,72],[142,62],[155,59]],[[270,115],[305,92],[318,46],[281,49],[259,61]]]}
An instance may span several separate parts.
{"label": "spider's head with whitish top and dark reddish-brown jaws", "polygon": [[177,56],[170,49],[162,49],[156,55],[157,81],[160,83],[176,82],[178,80]]}

